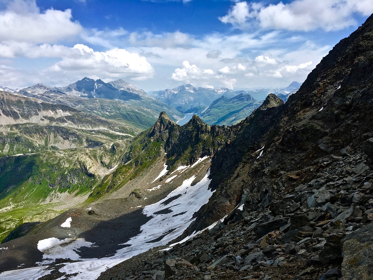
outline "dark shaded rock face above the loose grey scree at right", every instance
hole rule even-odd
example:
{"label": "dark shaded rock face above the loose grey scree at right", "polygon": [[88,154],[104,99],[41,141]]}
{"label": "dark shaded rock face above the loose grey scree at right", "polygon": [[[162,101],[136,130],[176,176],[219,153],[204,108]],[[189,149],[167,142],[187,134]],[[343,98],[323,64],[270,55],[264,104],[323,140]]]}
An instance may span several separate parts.
{"label": "dark shaded rock face above the loose grey scree at right", "polygon": [[[249,141],[236,141],[231,150],[242,150],[242,161],[239,164],[233,161],[224,168],[229,175],[219,184],[214,196],[219,196],[219,188],[225,190],[234,186],[238,193],[256,194],[252,201],[244,196],[249,199],[242,201],[245,205],[250,205],[252,210],[263,209],[283,192],[273,187],[279,174],[284,179],[297,174],[299,178],[291,183],[295,187],[312,180],[312,172],[306,170],[318,164],[315,163],[318,158],[333,153],[338,155],[342,149],[348,152],[363,149],[373,131],[372,25],[370,17],[366,24],[338,43],[288,102],[273,111],[261,110],[271,118],[265,129],[260,130],[257,127],[260,124],[250,122],[261,108],[240,124],[241,129],[247,131],[245,139]],[[255,151],[263,146],[263,154],[257,159],[258,152]],[[220,158],[230,157],[220,155]],[[221,174],[220,164],[217,167],[219,171],[214,172],[213,161],[213,178]],[[262,201],[266,204],[260,204]],[[216,209],[222,205],[225,202],[210,200],[203,210],[205,215],[197,218],[196,224],[200,223],[197,228],[216,221],[219,218],[215,215]],[[235,203],[231,204],[226,214],[235,206]]]}

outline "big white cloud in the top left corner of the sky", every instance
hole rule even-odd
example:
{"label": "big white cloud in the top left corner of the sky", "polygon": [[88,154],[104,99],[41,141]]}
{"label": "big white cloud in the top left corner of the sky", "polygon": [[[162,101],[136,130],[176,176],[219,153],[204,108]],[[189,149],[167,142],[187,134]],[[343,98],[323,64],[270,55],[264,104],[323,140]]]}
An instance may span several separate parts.
{"label": "big white cloud in the top left corner of the sky", "polygon": [[72,20],[71,10],[48,9],[41,13],[35,1],[12,1],[0,12],[0,40],[28,43],[55,43],[75,37],[83,30]]}

